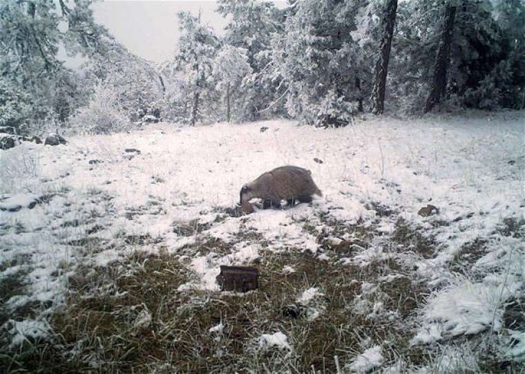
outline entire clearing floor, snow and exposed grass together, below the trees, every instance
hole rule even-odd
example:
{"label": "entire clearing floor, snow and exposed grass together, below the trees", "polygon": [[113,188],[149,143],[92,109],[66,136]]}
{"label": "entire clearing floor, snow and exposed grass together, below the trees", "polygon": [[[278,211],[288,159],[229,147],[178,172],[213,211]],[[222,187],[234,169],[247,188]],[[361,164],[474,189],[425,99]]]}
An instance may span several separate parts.
{"label": "entire clearing floor, snow and exposed grass together, below the trees", "polygon": [[[127,300],[131,291],[119,282],[141,271],[144,279],[153,277],[149,256],[162,253],[164,264],[175,264],[177,281],[165,295],[175,315],[182,303],[221,303],[220,310],[238,303],[257,326],[245,334],[240,319],[236,325],[218,312],[218,320],[195,327],[213,348],[181,348],[206,366],[194,368],[190,359],[180,366],[182,353],[174,353],[164,360],[166,372],[242,370],[231,363],[231,347],[239,357],[255,357],[238,364],[253,371],[519,368],[525,362],[524,136],[525,113],[508,111],[363,118],[342,129],[283,120],[195,128],[160,123],[75,136],[57,147],[26,142],[0,151],[0,323],[8,357],[1,364],[23,366],[26,352],[48,344],[76,365],[133,366],[122,352],[95,353],[98,330],[83,330],[85,339],[73,342],[78,333],[68,339],[72,333],[64,333],[61,321],[79,300]],[[281,165],[311,170],[323,197],[289,209],[225,213],[244,183]],[[428,204],[439,212],[419,215]],[[215,278],[219,265],[229,264],[260,266],[260,290],[221,294]],[[274,302],[272,283],[281,279],[292,279],[295,293]],[[410,300],[395,293],[399,285],[408,285]],[[341,305],[336,294],[344,296]],[[301,312],[289,317],[267,310],[265,297],[268,305],[293,303]],[[137,337],[142,326],[175,350],[177,342],[187,346],[184,334],[169,335],[168,324],[160,328],[156,303],[157,310],[140,299],[133,303],[128,310],[137,316],[128,313],[122,329],[132,326]],[[116,311],[106,312],[114,322]],[[362,326],[350,326],[345,313],[351,321],[361,316]],[[340,324],[328,337],[337,343],[308,348],[306,332],[321,323]],[[118,335],[108,330],[99,333]],[[241,346],[230,346],[233,341]],[[317,349],[317,357],[305,358]],[[156,358],[140,368],[163,372],[158,355],[164,353],[151,348],[147,354]]]}

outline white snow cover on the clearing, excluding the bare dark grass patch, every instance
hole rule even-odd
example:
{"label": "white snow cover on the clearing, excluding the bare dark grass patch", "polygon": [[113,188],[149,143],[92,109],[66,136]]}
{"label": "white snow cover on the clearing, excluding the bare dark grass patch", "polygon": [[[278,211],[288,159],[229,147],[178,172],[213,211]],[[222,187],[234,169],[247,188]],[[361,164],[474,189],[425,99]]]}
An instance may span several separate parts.
{"label": "white snow cover on the clearing, excluding the bare dark grass patch", "polygon": [[[160,123],[131,133],[76,136],[57,147],[24,143],[0,151],[0,279],[21,277],[25,284],[5,308],[15,316],[25,305],[40,306],[24,325],[8,321],[12,344],[23,339],[20,326],[48,331],[41,321],[64,303],[67,279],[79,264],[106,265],[137,247],[178,254],[202,236],[213,237],[231,243],[233,251],[212,248],[188,259],[199,278],[180,290],[216,292],[219,265],[259,256],[258,244],[240,234],[245,231],[260,234],[276,253],[293,247],[327,260],[316,236],[303,227],[307,220],[318,231],[330,230],[321,212],[381,233],[369,248],[336,260],[366,266],[396,256],[428,280],[433,293],[420,310],[411,344],[501,333],[506,302],[525,293],[524,236],[502,233],[508,220],[524,218],[524,133],[524,112],[367,118],[342,129],[283,120],[195,128]],[[281,165],[310,169],[323,197],[292,209],[220,216],[238,202],[244,183]],[[439,214],[419,216],[427,204]],[[393,214],[378,214],[374,207]],[[400,218],[432,239],[432,255],[397,252],[386,244]],[[174,230],[189,223],[203,231]],[[484,252],[460,276],[452,265],[460,256],[468,259],[465,248],[477,240]],[[321,294],[312,290],[301,299]],[[278,334],[260,337],[261,346],[288,348]],[[514,342],[508,354],[525,360],[524,331],[507,335]],[[349,367],[363,371],[382,363],[381,347],[374,346]]]}

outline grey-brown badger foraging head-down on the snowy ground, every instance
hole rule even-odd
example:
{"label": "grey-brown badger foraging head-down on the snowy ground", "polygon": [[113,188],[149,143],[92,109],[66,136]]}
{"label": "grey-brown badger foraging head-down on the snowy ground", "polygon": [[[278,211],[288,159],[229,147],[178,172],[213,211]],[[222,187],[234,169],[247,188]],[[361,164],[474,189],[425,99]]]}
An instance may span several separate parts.
{"label": "grey-brown badger foraging head-down on the snowy ground", "polygon": [[282,166],[259,176],[256,180],[242,186],[240,189],[240,205],[246,213],[253,212],[249,204],[252,198],[262,199],[263,209],[280,207],[281,200],[287,200],[288,205],[310,203],[312,195],[323,196],[314,180],[312,172],[296,166]]}

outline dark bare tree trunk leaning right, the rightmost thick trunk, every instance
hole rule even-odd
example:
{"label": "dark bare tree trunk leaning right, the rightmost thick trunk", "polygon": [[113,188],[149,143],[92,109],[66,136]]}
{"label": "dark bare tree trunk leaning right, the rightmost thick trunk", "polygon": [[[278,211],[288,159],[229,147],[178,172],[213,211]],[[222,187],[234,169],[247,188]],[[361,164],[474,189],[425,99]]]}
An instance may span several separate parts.
{"label": "dark bare tree trunk leaning right, the rightmost thick trunk", "polygon": [[441,32],[441,39],[439,40],[439,47],[437,48],[432,86],[430,86],[430,94],[425,105],[425,113],[431,111],[436,104],[439,104],[441,97],[446,93],[447,68],[450,62],[450,44],[452,44],[455,15],[456,6],[447,3],[445,6],[445,17],[443,19],[443,31]]}

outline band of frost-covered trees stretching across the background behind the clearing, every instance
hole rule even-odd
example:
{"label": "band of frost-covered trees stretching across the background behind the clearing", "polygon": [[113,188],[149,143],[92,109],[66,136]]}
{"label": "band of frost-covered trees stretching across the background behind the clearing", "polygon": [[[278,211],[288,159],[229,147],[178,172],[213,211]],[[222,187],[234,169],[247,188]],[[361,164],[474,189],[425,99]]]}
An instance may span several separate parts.
{"label": "band of frost-covered trees stretching across the background behind the clearing", "polygon": [[[318,126],[361,111],[525,106],[522,0],[219,0],[225,32],[179,12],[175,53],[159,66],[97,25],[90,6],[1,3],[0,126],[67,124],[101,103],[109,122],[155,108],[189,124],[281,116]],[[81,74],[59,46],[87,57]]]}

